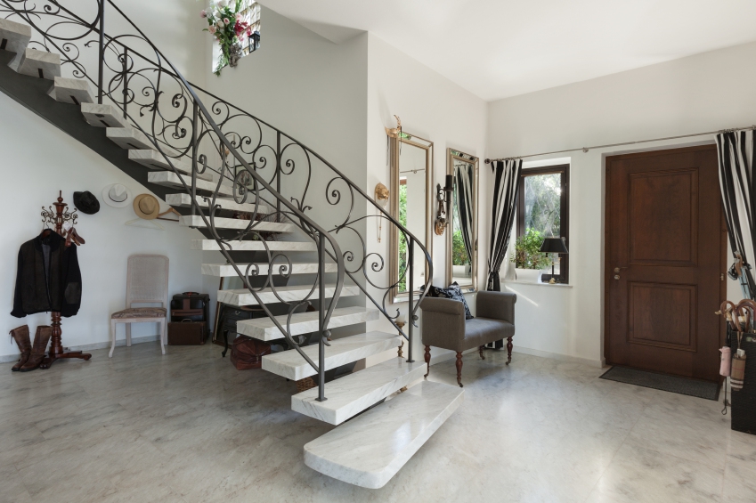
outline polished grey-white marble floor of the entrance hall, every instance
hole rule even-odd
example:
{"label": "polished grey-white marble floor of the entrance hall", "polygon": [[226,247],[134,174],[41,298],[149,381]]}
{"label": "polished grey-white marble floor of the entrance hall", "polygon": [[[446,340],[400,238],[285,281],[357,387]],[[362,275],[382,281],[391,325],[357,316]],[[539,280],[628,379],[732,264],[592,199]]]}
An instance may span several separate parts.
{"label": "polished grey-white marble floor of the entrance hall", "polygon": [[[294,383],[237,371],[215,345],[167,353],[4,364],[0,501],[756,501],[756,436],[731,431],[720,402],[602,369],[467,354],[465,402],[373,491],[305,466],[305,443],[333,426],[289,410]],[[430,378],[453,384],[453,363]]]}

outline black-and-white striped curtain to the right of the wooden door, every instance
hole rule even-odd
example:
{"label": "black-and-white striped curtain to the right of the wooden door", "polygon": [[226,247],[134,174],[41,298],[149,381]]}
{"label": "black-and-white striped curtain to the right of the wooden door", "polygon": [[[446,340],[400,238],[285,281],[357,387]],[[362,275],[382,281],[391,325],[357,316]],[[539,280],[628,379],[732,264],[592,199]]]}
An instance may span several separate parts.
{"label": "black-and-white striped curtain to the right of the wooden door", "polygon": [[728,223],[730,247],[743,260],[739,278],[744,298],[756,298],[756,283],[749,260],[753,259],[756,247],[756,179],[754,179],[753,131],[728,131],[717,134],[719,154],[719,189]]}

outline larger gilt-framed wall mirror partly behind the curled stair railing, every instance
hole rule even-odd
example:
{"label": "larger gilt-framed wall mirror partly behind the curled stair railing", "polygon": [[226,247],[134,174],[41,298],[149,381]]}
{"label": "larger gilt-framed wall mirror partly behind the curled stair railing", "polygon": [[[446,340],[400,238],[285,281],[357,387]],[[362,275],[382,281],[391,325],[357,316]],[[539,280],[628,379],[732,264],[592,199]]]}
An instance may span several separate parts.
{"label": "larger gilt-framed wall mirror partly behind the curled stair railing", "polygon": [[[386,134],[391,169],[391,215],[419,239],[432,256],[433,142],[402,129],[386,129]],[[414,267],[410,268],[407,239],[395,225],[391,226],[390,237],[389,278],[393,285],[390,296],[395,303],[409,296],[410,284],[419,294],[429,271],[426,257],[417,246],[413,247]],[[413,271],[411,279],[410,269]]]}

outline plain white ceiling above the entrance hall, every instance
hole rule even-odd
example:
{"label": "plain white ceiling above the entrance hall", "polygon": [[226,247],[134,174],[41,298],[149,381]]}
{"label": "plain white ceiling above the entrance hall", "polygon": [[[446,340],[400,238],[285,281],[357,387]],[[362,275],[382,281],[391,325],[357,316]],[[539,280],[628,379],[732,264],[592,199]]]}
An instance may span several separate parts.
{"label": "plain white ceiling above the entrance hall", "polygon": [[756,40],[752,0],[262,3],[336,43],[370,31],[486,101]]}

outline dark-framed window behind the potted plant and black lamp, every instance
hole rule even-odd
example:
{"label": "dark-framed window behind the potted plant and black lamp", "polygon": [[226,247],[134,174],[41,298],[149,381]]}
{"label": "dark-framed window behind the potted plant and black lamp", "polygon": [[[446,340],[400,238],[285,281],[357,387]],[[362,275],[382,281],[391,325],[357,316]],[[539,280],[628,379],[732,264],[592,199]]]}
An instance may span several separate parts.
{"label": "dark-framed window behind the potted plant and black lamp", "polygon": [[[517,238],[530,232],[539,239],[562,238],[570,248],[569,233],[569,165],[523,169],[517,198]],[[569,282],[569,255],[553,255],[554,278],[560,283]],[[558,257],[558,258],[557,258]],[[551,263],[544,267],[551,279]]]}

